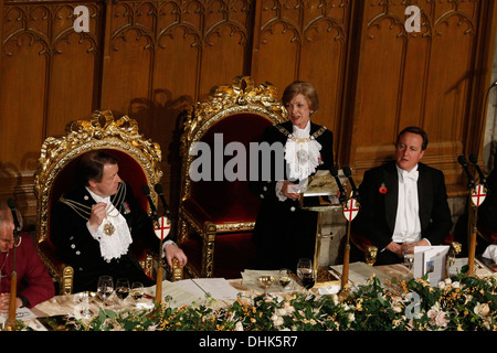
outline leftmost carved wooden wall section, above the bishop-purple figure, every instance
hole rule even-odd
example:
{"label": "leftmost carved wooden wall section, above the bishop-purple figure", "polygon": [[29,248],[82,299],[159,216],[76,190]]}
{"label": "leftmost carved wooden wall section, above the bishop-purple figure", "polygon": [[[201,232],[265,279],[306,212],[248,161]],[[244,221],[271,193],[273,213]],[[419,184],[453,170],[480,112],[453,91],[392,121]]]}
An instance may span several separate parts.
{"label": "leftmost carved wooden wall section, above the bishop-purple figure", "polygon": [[14,196],[30,225],[35,214],[32,174],[42,141],[95,108],[102,7],[86,1],[89,32],[76,33],[73,1],[1,4],[0,124],[9,128],[0,131],[0,199]]}

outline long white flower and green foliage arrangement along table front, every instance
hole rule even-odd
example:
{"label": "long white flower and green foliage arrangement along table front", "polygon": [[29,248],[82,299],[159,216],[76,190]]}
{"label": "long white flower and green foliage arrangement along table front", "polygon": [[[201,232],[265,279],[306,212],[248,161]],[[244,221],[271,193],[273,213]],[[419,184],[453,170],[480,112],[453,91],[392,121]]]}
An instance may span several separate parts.
{"label": "long white flower and green foliage arrangement along table front", "polygon": [[422,278],[367,285],[339,302],[336,295],[295,292],[239,297],[228,308],[204,303],[173,308],[166,302],[150,311],[101,310],[80,331],[496,331],[497,279],[458,275],[431,287]]}

